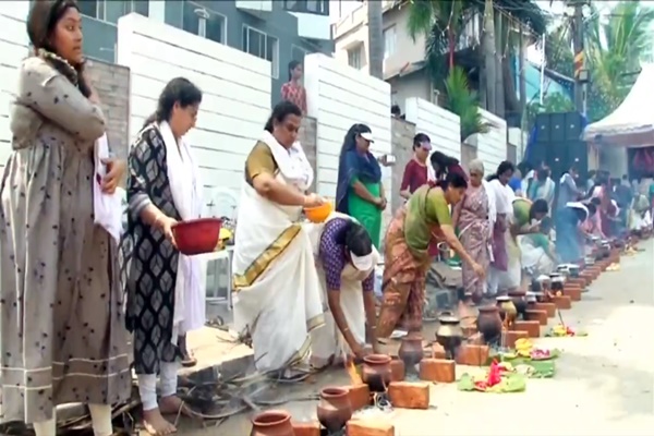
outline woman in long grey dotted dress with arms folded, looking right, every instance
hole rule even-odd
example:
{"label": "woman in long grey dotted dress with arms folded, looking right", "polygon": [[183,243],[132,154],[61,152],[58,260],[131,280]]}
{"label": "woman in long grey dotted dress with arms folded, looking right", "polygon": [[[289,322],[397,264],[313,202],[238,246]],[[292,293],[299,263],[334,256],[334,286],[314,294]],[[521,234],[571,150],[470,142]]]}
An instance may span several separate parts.
{"label": "woman in long grey dotted dress with arms folded, looking right", "polygon": [[[132,380],[118,241],[94,223],[106,121],[84,72],[76,2],[34,2],[27,34],[35,56],[20,70],[0,187],[2,421],[52,436],[55,407],[85,402],[95,435],[109,436],[110,404],[130,397]],[[104,164],[112,193],[125,166]]]}

